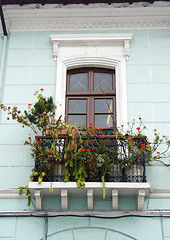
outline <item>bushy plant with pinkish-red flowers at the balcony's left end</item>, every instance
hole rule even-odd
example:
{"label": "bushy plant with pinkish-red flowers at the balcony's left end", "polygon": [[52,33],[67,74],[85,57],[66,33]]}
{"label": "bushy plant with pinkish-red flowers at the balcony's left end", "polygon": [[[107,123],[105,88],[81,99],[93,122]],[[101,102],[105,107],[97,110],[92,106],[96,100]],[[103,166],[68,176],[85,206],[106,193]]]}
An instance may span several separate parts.
{"label": "bushy plant with pinkish-red flowers at the balcony's left end", "polygon": [[[52,97],[45,98],[42,95],[43,88],[40,91],[36,91],[35,96],[37,101],[34,105],[28,104],[28,110],[25,110],[22,114],[17,107],[0,105],[0,108],[7,112],[11,116],[12,120],[16,120],[22,125],[22,127],[30,128],[36,137],[28,136],[25,141],[26,145],[29,145],[32,153],[31,156],[35,161],[35,167],[32,169],[30,180],[37,178],[40,184],[52,169],[53,165],[60,158],[62,148],[57,148],[55,143],[58,139],[56,129],[67,127],[61,120],[61,116],[55,119],[56,106]],[[10,120],[10,117],[7,117]],[[43,145],[39,135],[45,135],[45,131],[50,129],[52,144],[49,147]],[[19,193],[22,193],[24,187],[19,187]],[[28,195],[28,202],[30,202],[30,196],[28,194],[28,186],[26,187],[26,193]]]}

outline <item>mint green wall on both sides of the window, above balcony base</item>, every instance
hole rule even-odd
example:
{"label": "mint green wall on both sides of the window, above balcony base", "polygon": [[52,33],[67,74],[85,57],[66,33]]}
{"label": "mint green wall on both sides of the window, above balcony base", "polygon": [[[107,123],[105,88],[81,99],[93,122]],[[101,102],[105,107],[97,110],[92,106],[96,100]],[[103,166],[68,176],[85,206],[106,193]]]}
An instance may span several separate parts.
{"label": "mint green wall on both sides of the window, above balcony base", "polygon": [[[170,136],[170,30],[120,32],[133,33],[127,62],[128,120],[141,116],[150,129],[150,136],[155,128],[161,134]],[[10,33],[3,89],[4,104],[16,105],[21,110],[27,109],[28,104],[36,100],[33,93],[40,88],[44,88],[46,96],[55,97],[57,63],[52,58],[51,33]],[[5,181],[0,182],[1,188],[26,185],[33,166],[29,147],[23,145],[30,131],[6,118],[3,112],[0,125],[0,174]],[[6,179],[9,172],[10,179]],[[148,167],[148,173],[152,188],[170,187],[169,181],[161,177],[162,174],[169,177],[170,171],[167,168]],[[155,174],[160,176],[158,181],[154,180]]]}

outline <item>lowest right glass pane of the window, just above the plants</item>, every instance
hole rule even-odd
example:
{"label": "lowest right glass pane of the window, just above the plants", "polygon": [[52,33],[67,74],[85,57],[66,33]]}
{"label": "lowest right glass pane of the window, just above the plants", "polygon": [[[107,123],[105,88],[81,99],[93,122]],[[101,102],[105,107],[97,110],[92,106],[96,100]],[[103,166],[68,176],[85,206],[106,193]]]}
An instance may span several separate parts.
{"label": "lowest right glass pane of the window, just above the plants", "polygon": [[113,119],[111,114],[95,115],[95,126],[102,127],[102,128],[112,128]]}

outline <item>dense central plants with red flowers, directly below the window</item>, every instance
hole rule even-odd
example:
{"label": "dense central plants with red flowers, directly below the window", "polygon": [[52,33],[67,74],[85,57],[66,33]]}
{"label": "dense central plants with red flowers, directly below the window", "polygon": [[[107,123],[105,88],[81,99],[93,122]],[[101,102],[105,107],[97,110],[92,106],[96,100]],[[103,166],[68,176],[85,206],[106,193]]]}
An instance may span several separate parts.
{"label": "dense central plants with red flowers, directly below the window", "polygon": [[85,188],[85,181],[104,181],[113,165],[113,151],[108,150],[102,129],[92,124],[88,128],[79,127],[78,137],[70,134],[65,151],[65,181],[73,177],[77,186]]}

